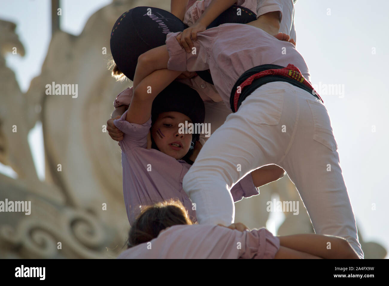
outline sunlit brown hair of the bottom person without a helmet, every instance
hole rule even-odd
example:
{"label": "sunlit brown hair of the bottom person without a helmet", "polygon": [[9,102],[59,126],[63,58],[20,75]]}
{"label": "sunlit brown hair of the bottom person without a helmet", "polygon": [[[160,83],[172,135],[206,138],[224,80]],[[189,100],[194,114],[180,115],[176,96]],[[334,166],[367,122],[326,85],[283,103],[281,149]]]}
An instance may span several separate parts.
{"label": "sunlit brown hair of the bottom person without a helmet", "polygon": [[193,224],[180,201],[170,199],[147,206],[131,226],[127,246],[149,242],[158,237],[161,230],[177,224]]}

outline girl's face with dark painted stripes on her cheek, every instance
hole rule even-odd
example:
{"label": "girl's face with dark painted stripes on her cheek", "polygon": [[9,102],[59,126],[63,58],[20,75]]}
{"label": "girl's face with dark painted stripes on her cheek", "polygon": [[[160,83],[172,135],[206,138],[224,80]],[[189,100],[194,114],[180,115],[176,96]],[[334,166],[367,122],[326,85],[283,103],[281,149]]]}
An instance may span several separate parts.
{"label": "girl's face with dark painted stripes on her cheek", "polygon": [[169,111],[159,114],[150,129],[159,151],[174,159],[181,159],[186,155],[191,146],[192,134],[178,132],[179,124],[185,124],[185,121],[190,123],[191,119],[180,112]]}

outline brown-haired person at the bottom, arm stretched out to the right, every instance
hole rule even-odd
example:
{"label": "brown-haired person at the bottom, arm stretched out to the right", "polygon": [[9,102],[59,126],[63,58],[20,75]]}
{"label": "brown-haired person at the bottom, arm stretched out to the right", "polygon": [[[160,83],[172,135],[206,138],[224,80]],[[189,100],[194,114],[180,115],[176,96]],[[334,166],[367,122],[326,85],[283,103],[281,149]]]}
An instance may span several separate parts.
{"label": "brown-haired person at the bottom, arm stretched out to the right", "polygon": [[[328,242],[331,249],[328,249]],[[248,230],[193,225],[179,202],[147,207],[130,229],[128,249],[118,259],[357,259],[347,240],[300,234],[274,237],[266,228]]]}

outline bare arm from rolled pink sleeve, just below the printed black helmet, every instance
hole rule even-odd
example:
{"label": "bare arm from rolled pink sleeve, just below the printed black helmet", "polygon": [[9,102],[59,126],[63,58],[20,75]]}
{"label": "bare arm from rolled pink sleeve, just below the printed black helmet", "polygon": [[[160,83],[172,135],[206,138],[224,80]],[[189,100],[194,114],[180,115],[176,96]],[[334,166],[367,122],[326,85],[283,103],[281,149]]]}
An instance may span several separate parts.
{"label": "bare arm from rolled pink sleeve, just below the printed black helmet", "polygon": [[138,57],[135,69],[133,88],[145,79],[152,72],[168,67],[169,53],[166,45],[151,49]]}

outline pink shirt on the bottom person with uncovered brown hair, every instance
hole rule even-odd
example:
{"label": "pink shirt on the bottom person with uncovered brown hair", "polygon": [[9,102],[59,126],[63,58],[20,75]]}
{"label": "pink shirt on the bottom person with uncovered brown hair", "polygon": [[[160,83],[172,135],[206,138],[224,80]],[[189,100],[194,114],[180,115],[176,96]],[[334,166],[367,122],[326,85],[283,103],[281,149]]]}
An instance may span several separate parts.
{"label": "pink shirt on the bottom person with uncovered brown hair", "polygon": [[266,228],[244,231],[206,224],[175,225],[118,259],[273,259],[280,239]]}

